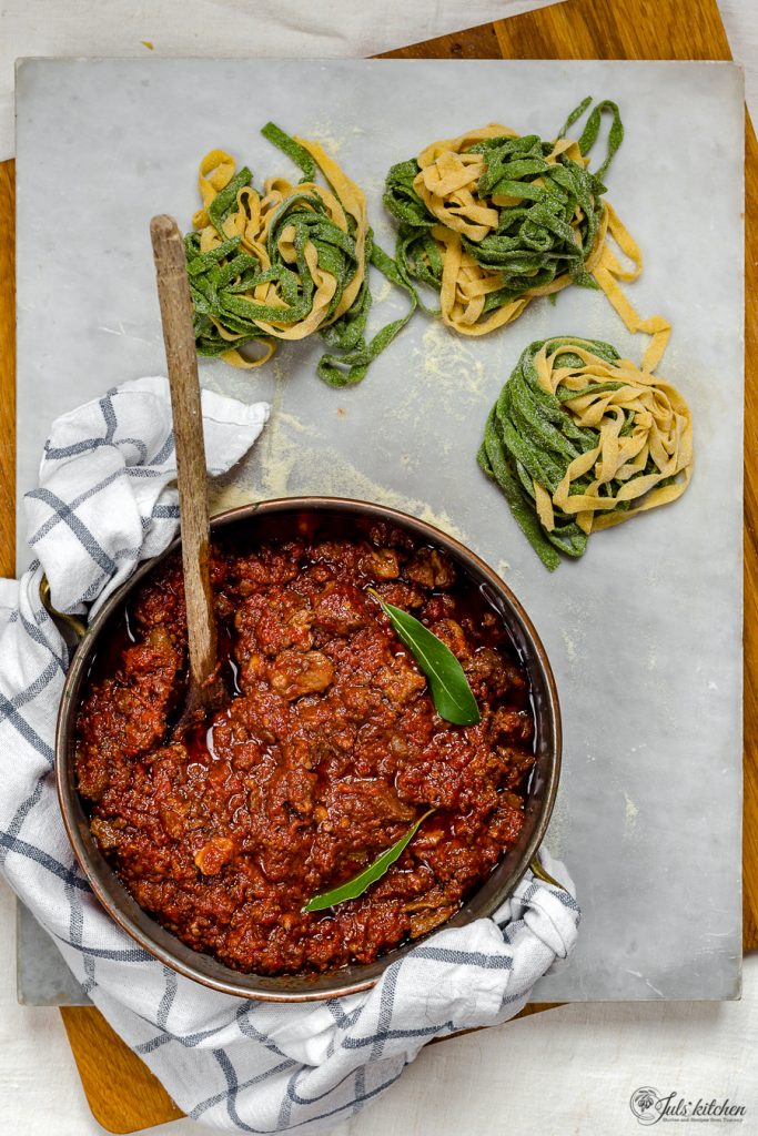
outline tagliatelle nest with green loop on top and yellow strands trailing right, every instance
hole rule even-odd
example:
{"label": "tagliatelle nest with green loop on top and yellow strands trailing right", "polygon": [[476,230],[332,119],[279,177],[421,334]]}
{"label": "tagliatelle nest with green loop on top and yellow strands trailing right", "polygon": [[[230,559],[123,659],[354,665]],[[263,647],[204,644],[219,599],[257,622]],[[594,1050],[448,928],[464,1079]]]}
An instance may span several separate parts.
{"label": "tagliatelle nest with green loop on top and yellow strands trailing right", "polygon": [[[503,327],[535,298],[569,284],[600,286],[631,332],[653,336],[645,359],[652,369],[669,325],[660,316],[640,318],[623,295],[618,282],[640,275],[642,257],[602,200],[602,177],[624,136],[617,106],[598,103],[578,141],[565,137],[590,101],[568,116],[555,142],[494,123],[393,166],[384,203],[400,220],[395,260],[409,284],[440,293],[442,319],[463,335]],[[603,112],[611,115],[608,153],[592,173],[586,153]]]}

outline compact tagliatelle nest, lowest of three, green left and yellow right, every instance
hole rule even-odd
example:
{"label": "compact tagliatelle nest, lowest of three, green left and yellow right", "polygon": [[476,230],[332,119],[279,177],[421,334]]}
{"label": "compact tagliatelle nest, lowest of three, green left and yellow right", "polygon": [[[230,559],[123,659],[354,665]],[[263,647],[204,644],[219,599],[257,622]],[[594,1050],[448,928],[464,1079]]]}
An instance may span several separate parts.
{"label": "compact tagliatelle nest, lowest of three, green left and yellow right", "polygon": [[[678,391],[607,343],[533,343],[500,392],[478,460],[548,568],[602,528],[684,493],[692,419]],[[556,551],[558,550],[558,551]]]}

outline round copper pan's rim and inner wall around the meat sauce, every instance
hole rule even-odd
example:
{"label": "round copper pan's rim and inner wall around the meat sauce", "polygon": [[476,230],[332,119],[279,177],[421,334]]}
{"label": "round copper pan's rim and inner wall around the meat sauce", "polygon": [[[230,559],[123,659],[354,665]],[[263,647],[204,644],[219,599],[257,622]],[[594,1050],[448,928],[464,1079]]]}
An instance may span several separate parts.
{"label": "round copper pan's rim and inner wall around the meat sauce", "polygon": [[[520,603],[492,568],[451,536],[395,509],[342,498],[288,498],[232,509],[215,517],[211,527],[214,531],[239,528],[245,534],[245,540],[249,535],[255,538],[256,527],[259,527],[265,518],[300,513],[315,513],[317,520],[339,517],[342,523],[348,524],[351,517],[384,520],[406,529],[424,544],[443,549],[463,569],[473,586],[480,588],[492,608],[500,613],[522,655],[528,671],[536,718],[536,760],[530,780],[525,824],[516,846],[503,857],[488,879],[444,926],[464,927],[475,919],[491,916],[513,893],[534,858],[548,827],[558,788],[561,747],[560,708],[544,648]],[[416,944],[408,943],[390,951],[370,964],[343,967],[331,974],[277,978],[240,974],[210,955],[193,951],[138,907],[102,857],[90,833],[84,803],[76,790],[74,770],[74,726],[82,684],[95,652],[102,648],[110,629],[119,620],[128,595],[165,556],[178,546],[178,543],[175,541],[161,557],[141,565],[124,586],[109,596],[90,621],[68,670],[58,713],[56,768],[64,824],[76,859],[102,907],[135,942],[160,962],[205,986],[236,997],[270,1002],[309,1002],[368,989],[386,967]],[[418,942],[417,939],[416,943]]]}

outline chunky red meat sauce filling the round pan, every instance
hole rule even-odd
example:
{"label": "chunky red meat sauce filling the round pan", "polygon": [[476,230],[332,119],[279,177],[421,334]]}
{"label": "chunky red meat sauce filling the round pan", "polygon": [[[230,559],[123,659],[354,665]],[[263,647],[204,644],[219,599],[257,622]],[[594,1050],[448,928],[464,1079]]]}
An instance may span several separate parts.
{"label": "chunky red meat sauce filling the round pan", "polygon": [[[499,618],[436,549],[385,524],[278,531],[213,558],[228,704],[182,742],[181,562],[130,602],[95,660],[76,725],[91,828],[138,903],[236,970],[372,962],[439,926],[516,841],[533,766],[524,670]],[[482,720],[434,711],[373,586],[460,660]],[[424,811],[363,896],[303,914]]]}

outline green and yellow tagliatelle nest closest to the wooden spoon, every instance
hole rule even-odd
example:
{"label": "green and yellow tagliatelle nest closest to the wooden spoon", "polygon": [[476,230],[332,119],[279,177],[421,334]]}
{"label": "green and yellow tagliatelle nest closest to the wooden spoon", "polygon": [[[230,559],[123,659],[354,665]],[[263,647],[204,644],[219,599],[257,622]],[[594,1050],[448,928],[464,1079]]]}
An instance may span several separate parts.
{"label": "green and yellow tagliatelle nest closest to the wooden spoon", "polygon": [[[319,376],[338,386],[357,383],[405,326],[415,296],[408,316],[366,342],[369,260],[410,290],[374,244],[365,194],[317,142],[292,139],[272,123],[261,133],[300,166],[303,178],[268,178],[261,193],[250,169],[236,173],[225,151],[202,159],[203,206],[192,219],[198,232],[185,242],[198,353],[259,367],[278,340],[319,332],[344,352],[324,356]],[[326,185],[315,181],[318,170]],[[257,354],[241,352],[250,344]]]}

